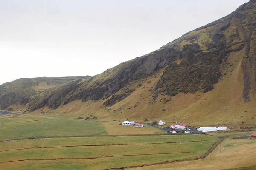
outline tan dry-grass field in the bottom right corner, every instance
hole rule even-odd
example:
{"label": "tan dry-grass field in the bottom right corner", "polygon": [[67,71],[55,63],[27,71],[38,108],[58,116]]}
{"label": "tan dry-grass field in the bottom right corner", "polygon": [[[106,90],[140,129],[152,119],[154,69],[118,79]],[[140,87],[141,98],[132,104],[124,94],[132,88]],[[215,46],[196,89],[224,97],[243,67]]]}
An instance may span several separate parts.
{"label": "tan dry-grass field in the bottom right corner", "polygon": [[205,159],[134,168],[132,170],[255,170],[255,139],[226,139]]}

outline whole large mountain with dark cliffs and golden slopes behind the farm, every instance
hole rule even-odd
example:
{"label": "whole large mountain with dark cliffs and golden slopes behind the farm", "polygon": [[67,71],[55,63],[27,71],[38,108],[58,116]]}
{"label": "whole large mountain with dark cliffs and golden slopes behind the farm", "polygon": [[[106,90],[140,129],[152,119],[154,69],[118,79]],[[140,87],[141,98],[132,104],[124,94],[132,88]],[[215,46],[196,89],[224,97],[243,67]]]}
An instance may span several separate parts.
{"label": "whole large mountain with dark cliffs and golden slopes behind the farm", "polygon": [[[254,124],[256,0],[102,74],[29,94],[24,111],[166,119],[198,125]],[[1,86],[1,89],[3,87]],[[23,89],[23,88],[20,88]],[[13,96],[0,92],[1,108]]]}

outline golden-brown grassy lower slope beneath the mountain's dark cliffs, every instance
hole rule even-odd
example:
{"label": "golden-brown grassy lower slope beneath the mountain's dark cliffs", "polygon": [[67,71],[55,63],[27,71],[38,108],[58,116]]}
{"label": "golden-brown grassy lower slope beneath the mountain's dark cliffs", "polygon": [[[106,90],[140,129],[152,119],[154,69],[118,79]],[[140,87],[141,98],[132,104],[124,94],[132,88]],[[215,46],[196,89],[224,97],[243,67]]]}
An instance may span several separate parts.
{"label": "golden-brown grassy lower slope beneath the mountain's dark cliffs", "polygon": [[[254,107],[256,101],[244,103],[242,99],[243,73],[241,70],[241,56],[244,51],[230,53],[228,62],[233,63],[228,69],[221,65],[221,71],[227,72],[208,93],[195,94],[179,93],[176,96],[159,95],[153,101],[154,88],[156,87],[163,71],[158,71],[151,77],[130,82],[126,87],[135,91],[122,101],[108,107],[104,106],[105,100],[70,102],[56,110],[43,108],[35,113],[55,114],[60,116],[97,116],[97,119],[122,122],[131,119],[143,122],[143,119],[164,120],[166,122],[185,122],[187,125],[227,125],[228,127],[250,126],[255,124],[256,114]],[[142,86],[137,87],[141,83]],[[117,92],[119,93],[119,92]],[[164,100],[171,101],[164,103]],[[165,109],[165,111],[163,111]],[[245,112],[246,111],[246,112]],[[92,115],[92,116],[90,116]],[[242,123],[244,122],[244,124]]]}

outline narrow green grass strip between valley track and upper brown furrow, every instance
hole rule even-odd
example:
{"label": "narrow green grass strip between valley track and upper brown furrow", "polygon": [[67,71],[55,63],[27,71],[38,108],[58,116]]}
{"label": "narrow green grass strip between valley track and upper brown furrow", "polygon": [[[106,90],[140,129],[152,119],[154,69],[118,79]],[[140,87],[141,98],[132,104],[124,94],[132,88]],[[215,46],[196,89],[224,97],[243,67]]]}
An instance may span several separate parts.
{"label": "narrow green grass strip between valley track and upper brown furrow", "polygon": [[[24,139],[0,142],[0,151],[16,150],[31,147],[61,147],[76,145],[113,145],[113,144],[157,144],[163,142],[204,141],[208,136],[203,135],[155,135],[155,136],[95,136],[75,138],[44,138]],[[214,138],[213,138],[214,139]]]}

